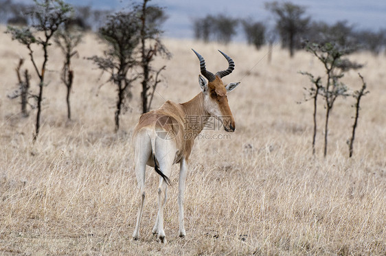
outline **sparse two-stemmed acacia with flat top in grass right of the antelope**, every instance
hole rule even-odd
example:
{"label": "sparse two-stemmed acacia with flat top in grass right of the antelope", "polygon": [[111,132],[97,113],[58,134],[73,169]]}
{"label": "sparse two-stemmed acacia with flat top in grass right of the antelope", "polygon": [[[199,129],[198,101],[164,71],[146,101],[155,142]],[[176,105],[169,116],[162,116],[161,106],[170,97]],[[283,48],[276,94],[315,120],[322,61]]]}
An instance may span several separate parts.
{"label": "sparse two-stemmed acacia with flat top in grass right of the antelope", "polygon": [[326,119],[324,124],[324,150],[323,155],[327,155],[328,146],[328,122],[330,113],[334,107],[334,103],[338,97],[349,96],[348,86],[341,82],[345,72],[352,69],[359,69],[362,65],[352,62],[347,58],[343,58],[351,54],[355,49],[348,47],[341,47],[335,43],[324,43],[319,45],[317,43],[308,43],[306,50],[313,54],[326,70],[326,81],[323,83],[321,76],[315,76],[308,72],[301,72],[303,75],[308,75],[313,87],[308,89],[310,97],[314,100],[314,134],[313,134],[313,153],[315,154],[315,135],[316,135],[316,113],[317,113],[317,97],[323,97],[326,108]]}

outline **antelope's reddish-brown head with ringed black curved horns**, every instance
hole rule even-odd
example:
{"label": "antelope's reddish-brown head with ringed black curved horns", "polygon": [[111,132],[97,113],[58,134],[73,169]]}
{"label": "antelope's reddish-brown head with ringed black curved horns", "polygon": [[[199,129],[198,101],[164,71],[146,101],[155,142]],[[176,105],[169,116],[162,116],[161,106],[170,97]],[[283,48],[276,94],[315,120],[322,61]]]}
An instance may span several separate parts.
{"label": "antelope's reddish-brown head with ringed black curved horns", "polygon": [[[194,49],[192,49],[194,51]],[[220,51],[220,50],[218,50]],[[221,54],[227,59],[229,67],[227,70],[218,71],[216,74],[207,71],[205,68],[205,60],[203,56],[194,51],[198,60],[200,60],[201,74],[207,79],[203,78],[202,75],[198,75],[198,83],[201,86],[201,90],[204,95],[204,107],[207,113],[216,119],[219,119],[227,132],[234,132],[236,124],[234,117],[229,108],[227,93],[240,84],[240,82],[231,82],[225,85],[221,78],[225,75],[229,75],[234,70],[234,61],[220,51]]]}

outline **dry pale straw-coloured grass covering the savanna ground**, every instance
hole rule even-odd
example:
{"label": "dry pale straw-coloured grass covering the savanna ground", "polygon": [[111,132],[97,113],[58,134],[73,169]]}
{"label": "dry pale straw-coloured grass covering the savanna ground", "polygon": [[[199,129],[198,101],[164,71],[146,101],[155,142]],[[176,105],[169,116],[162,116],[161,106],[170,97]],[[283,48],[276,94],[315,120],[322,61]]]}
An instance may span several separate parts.
{"label": "dry pale straw-coloured grass covering the savanna ground", "polygon": [[[198,60],[218,71],[236,62],[224,82],[242,84],[229,93],[236,132],[204,130],[196,141],[185,190],[185,228],[178,237],[178,167],[168,190],[165,231],[159,244],[151,230],[157,215],[154,170],[146,172],[147,198],[141,240],[131,240],[139,194],[130,136],[140,115],[139,85],[114,130],[115,89],[85,59],[103,45],[89,34],[73,60],[75,80],[67,121],[63,58],[50,48],[41,134],[32,143],[35,112],[23,118],[16,88],[19,56],[27,51],[9,35],[0,37],[0,254],[1,255],[385,255],[386,87],[385,56],[355,54],[363,62],[369,95],[363,98],[354,156],[348,159],[354,108],[338,100],[330,119],[328,156],[323,159],[323,105],[318,115],[317,156],[311,154],[312,103],[304,99],[308,79],[323,74],[311,54],[288,58],[279,46],[266,61],[240,43],[218,45],[165,40],[173,54],[166,64],[153,108],[165,100],[185,102],[199,91]],[[30,62],[26,61],[30,72]],[[99,80],[100,79],[100,80]],[[352,88],[356,72],[345,77]],[[36,76],[32,90],[36,91]],[[214,136],[230,135],[230,137]]]}

